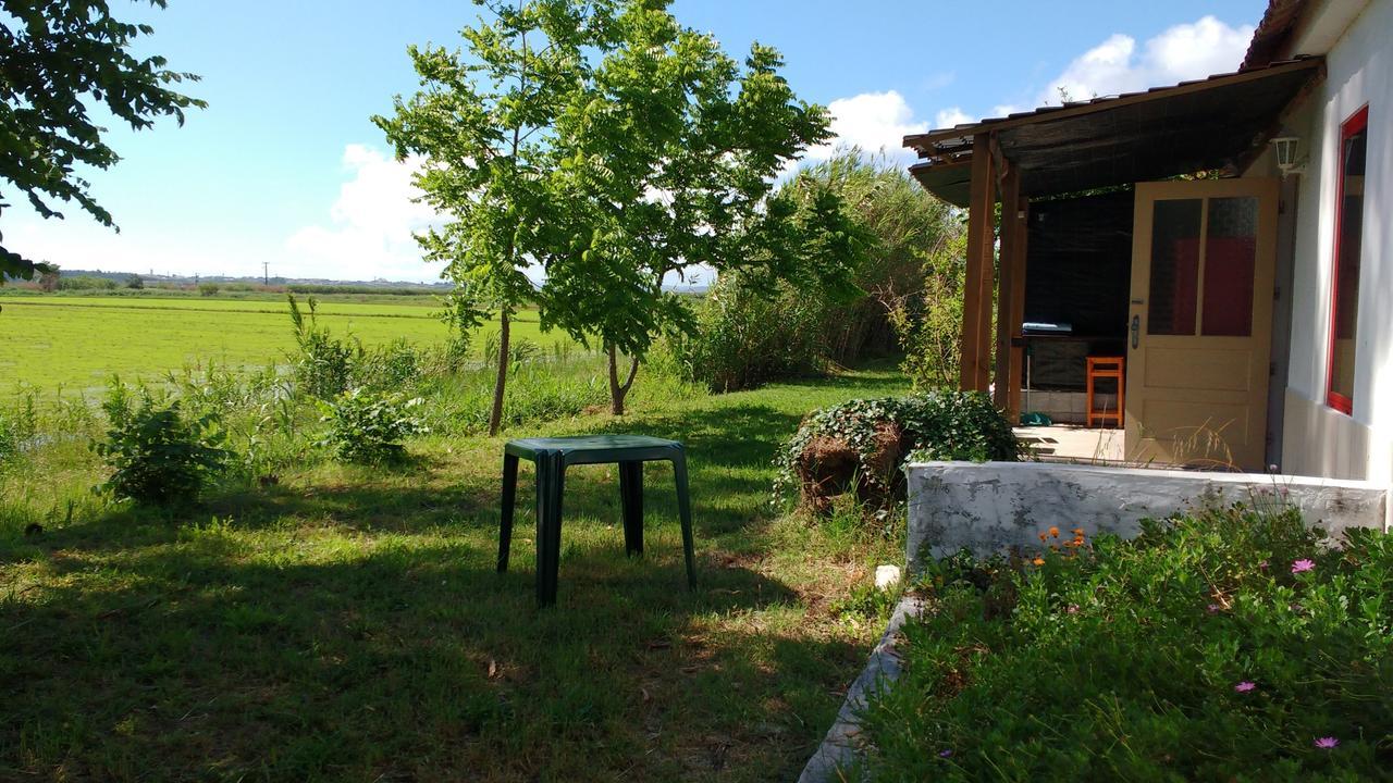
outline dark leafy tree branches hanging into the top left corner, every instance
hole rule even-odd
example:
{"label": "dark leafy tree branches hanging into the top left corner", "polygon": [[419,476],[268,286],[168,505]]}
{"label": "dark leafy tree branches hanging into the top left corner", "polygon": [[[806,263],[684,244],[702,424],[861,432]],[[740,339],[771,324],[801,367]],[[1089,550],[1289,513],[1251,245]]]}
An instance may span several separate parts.
{"label": "dark leafy tree branches hanging into the top left corner", "polygon": [[[167,86],[196,75],[167,70],[163,57],[128,52],[152,32],[113,18],[107,0],[0,0],[0,180],[43,217],[61,219],[56,202],[77,202],[116,228],[77,173],[78,166],[109,169],[120,160],[89,117],[91,103],[134,130],[166,116],[182,125],[185,109],[206,106]],[[0,213],[6,206],[0,192]],[[6,276],[29,280],[46,269],[0,244],[0,284]]]}

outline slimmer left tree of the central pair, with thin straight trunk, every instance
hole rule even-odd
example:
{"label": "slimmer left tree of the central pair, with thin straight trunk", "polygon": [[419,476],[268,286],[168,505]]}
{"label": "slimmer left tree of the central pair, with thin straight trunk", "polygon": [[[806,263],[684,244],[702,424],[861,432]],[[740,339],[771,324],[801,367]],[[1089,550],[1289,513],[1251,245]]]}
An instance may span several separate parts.
{"label": "slimmer left tree of the central pair, with thin straight trunk", "polygon": [[417,185],[447,222],[419,237],[446,262],[461,295],[499,315],[499,361],[489,435],[503,418],[510,323],[536,302],[531,263],[563,244],[549,187],[557,166],[557,110],[589,78],[586,53],[603,47],[607,0],[475,0],[489,13],[462,31],[469,56],[444,47],[408,52],[421,92],[397,96],[393,117],[373,117],[398,159],[421,156]]}

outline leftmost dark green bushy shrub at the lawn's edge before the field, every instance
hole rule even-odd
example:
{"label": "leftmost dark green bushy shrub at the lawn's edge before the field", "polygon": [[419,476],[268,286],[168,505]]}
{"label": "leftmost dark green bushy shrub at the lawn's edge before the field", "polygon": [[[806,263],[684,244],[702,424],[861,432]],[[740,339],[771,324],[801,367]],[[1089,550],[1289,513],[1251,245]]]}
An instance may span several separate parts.
{"label": "leftmost dark green bushy shrub at the lawn's edge before the field", "polygon": [[192,500],[230,457],[216,417],[185,417],[177,400],[156,400],[146,389],[132,398],[114,383],[102,408],[109,429],[93,449],[113,470],[102,489],[116,497],[159,506]]}

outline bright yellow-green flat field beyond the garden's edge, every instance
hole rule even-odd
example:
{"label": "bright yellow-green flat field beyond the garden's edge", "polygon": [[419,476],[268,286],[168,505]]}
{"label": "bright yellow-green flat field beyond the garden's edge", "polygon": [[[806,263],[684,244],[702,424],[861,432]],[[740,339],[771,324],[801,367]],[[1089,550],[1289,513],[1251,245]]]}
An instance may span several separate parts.
{"label": "bright yellow-green flat field beyond the garden's edge", "polygon": [[[305,297],[299,297],[301,301]],[[345,297],[347,298],[347,297]],[[433,297],[398,297],[398,304],[319,300],[319,322],[364,344],[404,337],[419,346],[447,339]],[[213,297],[0,297],[0,327],[21,340],[0,343],[0,390],[29,385],[45,390],[91,392],[113,373],[127,380],[159,379],[209,361],[263,366],[284,361],[294,334],[284,300]],[[482,346],[490,329],[476,337]],[[497,330],[496,326],[492,330]],[[524,312],[515,339],[543,344],[570,340],[543,334],[535,312]]]}

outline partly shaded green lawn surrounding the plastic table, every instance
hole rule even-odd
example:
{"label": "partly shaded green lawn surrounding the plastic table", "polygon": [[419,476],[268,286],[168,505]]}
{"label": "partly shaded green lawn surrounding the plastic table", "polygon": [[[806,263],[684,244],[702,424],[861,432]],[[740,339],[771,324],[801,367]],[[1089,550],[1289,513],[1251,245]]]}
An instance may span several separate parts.
{"label": "partly shaded green lawn surrounding the plastic table", "polygon": [[[547,426],[687,443],[701,587],[666,467],[637,560],[614,468],[574,468],[545,610],[527,464],[493,570],[497,439],[174,520],[93,503],[77,449],[0,474],[0,779],[790,780],[883,628],[840,606],[901,543],[772,510],[770,460],[809,410],[904,389],[857,372]],[[52,509],[47,531],[15,506]]]}

